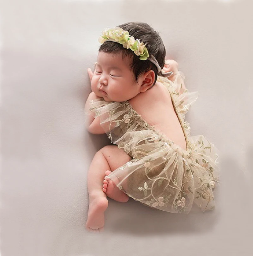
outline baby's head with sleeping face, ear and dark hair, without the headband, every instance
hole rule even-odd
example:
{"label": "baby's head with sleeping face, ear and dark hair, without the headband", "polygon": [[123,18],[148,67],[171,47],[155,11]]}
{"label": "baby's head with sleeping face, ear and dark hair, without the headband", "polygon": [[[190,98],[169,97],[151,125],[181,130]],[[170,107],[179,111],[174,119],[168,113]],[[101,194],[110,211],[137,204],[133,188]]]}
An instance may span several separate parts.
{"label": "baby's head with sleeping face, ear and dark hair, without the headband", "polygon": [[[165,46],[151,26],[144,22],[127,22],[118,27],[128,31],[135,40],[143,42],[149,56],[153,55],[160,68],[163,68]],[[99,47],[91,88],[107,102],[122,102],[151,88],[156,83],[157,75],[158,69],[150,60],[141,60],[134,51],[118,42],[105,41]]]}

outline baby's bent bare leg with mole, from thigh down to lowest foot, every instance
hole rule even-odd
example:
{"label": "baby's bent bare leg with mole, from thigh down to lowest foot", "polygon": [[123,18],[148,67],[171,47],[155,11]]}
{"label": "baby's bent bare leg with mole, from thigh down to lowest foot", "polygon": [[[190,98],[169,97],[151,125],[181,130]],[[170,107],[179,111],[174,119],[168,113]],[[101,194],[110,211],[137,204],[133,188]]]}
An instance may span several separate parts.
{"label": "baby's bent bare leg with mole, from thigh down to lowest foot", "polygon": [[[95,154],[87,175],[89,193],[87,230],[103,230],[105,222],[104,212],[108,206],[106,194],[102,190],[105,172],[107,170],[116,170],[118,167],[130,161],[130,159],[131,157],[116,145],[105,146]],[[124,202],[128,200],[128,196],[118,188],[115,190],[115,193],[121,193],[121,197],[125,197]]]}

